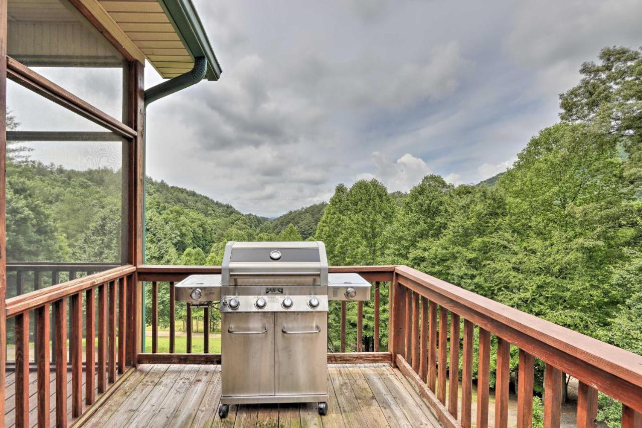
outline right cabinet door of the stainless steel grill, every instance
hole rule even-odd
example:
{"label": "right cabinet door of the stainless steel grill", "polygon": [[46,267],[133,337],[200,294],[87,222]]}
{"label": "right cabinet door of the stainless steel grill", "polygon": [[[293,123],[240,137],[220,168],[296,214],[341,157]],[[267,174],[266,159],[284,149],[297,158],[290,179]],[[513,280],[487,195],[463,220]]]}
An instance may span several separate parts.
{"label": "right cabinet door of the stainless steel grill", "polygon": [[327,312],[277,312],[277,395],[327,394]]}

